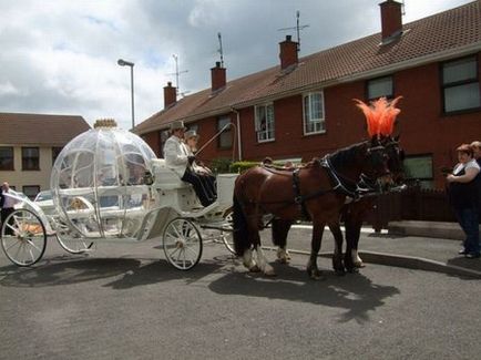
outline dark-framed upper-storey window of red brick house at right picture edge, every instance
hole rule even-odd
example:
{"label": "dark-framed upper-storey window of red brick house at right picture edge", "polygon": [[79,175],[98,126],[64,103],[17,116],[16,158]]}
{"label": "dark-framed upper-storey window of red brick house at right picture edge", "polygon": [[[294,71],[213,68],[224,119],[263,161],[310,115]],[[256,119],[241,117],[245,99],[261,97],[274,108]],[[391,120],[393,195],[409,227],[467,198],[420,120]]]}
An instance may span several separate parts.
{"label": "dark-framed upper-storey window of red brick house at right picture edge", "polygon": [[475,56],[442,64],[442,93],[446,113],[481,106]]}

